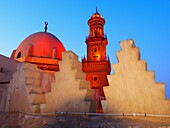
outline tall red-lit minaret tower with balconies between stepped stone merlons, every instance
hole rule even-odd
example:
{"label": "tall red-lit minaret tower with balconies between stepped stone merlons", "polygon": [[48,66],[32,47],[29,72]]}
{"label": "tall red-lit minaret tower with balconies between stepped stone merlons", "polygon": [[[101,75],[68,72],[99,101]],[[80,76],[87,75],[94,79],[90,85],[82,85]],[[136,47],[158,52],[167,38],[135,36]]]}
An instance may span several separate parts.
{"label": "tall red-lit minaret tower with balconies between stepped stone merlons", "polygon": [[86,38],[87,58],[82,60],[82,70],[86,72],[86,79],[90,81],[90,88],[95,89],[97,112],[102,112],[101,100],[105,99],[103,86],[108,86],[107,75],[110,74],[110,60],[106,57],[107,37],[104,35],[105,20],[98,13],[94,13],[88,20],[89,36]]}

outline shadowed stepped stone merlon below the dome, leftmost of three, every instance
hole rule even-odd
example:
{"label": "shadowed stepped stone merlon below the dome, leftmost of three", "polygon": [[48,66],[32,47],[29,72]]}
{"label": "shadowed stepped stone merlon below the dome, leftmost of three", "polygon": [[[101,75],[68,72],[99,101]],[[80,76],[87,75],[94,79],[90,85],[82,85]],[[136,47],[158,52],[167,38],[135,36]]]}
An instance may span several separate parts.
{"label": "shadowed stepped stone merlon below the dome, leftmost of three", "polygon": [[45,95],[40,86],[41,70],[30,63],[18,64],[10,82],[9,111],[40,112]]}

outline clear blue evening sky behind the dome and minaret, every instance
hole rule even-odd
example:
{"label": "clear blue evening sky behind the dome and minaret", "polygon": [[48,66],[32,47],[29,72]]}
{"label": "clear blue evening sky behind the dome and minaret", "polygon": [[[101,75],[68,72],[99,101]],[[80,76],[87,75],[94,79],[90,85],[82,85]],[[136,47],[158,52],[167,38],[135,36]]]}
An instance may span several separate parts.
{"label": "clear blue evening sky behind the dome and minaret", "polygon": [[10,57],[26,37],[44,31],[47,21],[48,32],[81,60],[86,55],[87,21],[96,6],[106,20],[111,63],[117,63],[119,42],[133,39],[141,60],[154,70],[156,82],[164,82],[170,99],[170,0],[0,0],[0,54]]}

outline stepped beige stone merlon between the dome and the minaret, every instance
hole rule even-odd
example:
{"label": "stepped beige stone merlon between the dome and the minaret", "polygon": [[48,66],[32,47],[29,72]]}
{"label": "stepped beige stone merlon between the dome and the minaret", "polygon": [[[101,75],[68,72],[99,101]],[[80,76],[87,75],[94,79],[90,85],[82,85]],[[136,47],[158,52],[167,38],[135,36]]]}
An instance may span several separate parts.
{"label": "stepped beige stone merlon between the dome and the minaret", "polygon": [[46,104],[42,106],[42,112],[94,112],[94,91],[89,89],[90,83],[85,80],[78,56],[68,51],[63,53],[62,59],[51,92],[45,93]]}

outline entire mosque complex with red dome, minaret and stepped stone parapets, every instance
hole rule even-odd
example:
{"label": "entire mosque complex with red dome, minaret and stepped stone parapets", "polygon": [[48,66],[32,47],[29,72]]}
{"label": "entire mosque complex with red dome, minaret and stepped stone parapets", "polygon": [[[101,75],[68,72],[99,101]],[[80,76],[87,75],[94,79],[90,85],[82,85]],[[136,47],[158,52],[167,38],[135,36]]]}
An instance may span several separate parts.
{"label": "entire mosque complex with red dome, minaret and stepped stone parapets", "polygon": [[0,55],[0,112],[170,114],[164,84],[155,82],[132,39],[120,42],[110,75],[104,24],[96,9],[82,62],[47,32],[47,22],[44,32],[25,38],[10,58]]}

